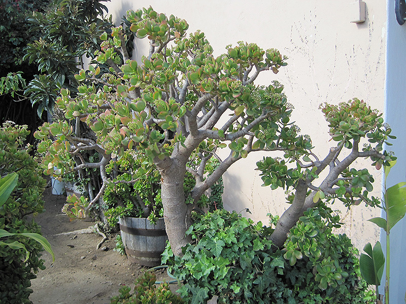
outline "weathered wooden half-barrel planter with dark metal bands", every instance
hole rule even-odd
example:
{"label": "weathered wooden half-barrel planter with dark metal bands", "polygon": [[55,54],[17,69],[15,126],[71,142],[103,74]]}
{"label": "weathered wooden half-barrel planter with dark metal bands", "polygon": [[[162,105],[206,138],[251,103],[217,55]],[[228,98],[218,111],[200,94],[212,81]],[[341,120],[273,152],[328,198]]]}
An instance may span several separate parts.
{"label": "weathered wooden half-barrel planter with dark metal bands", "polygon": [[120,217],[120,232],[130,261],[153,267],[161,264],[161,254],[168,239],[163,218],[156,224],[147,218]]}

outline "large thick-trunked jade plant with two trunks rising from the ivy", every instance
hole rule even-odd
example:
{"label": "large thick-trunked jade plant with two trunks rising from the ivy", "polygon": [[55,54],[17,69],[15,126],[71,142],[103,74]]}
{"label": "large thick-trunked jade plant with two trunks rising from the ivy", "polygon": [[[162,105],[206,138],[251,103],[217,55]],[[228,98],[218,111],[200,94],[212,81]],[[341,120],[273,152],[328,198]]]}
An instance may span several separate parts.
{"label": "large thick-trunked jade plant with two trunks rising from the ivy", "polygon": [[[368,197],[372,175],[351,166],[359,158],[370,158],[377,167],[393,159],[382,147],[391,130],[381,113],[358,99],[322,104],[334,145],[320,157],[310,137],[291,121],[293,106],[283,85],[255,84],[260,73],[284,68],[285,56],[239,42],[215,57],[205,34],[187,35],[188,27],[185,20],[151,7],[128,11],[123,25],[100,35],[97,62],[76,75],[78,94],[61,89],[56,102],[67,120],[80,120],[94,136],[77,136],[67,121],[46,123],[36,132],[46,174],[99,168],[103,185],[83,214],[98,204],[111,182],[107,168],[128,150],[143,164],[131,172],[131,181],[146,179],[149,167],[160,173],[165,227],[175,254],[190,242],[186,231],[201,196],[232,164],[256,151],[286,159],[258,162],[265,185],[291,191],[291,205],[270,236],[280,248],[303,212],[320,200],[377,204]],[[140,61],[131,59],[128,48],[138,39],[149,41]],[[218,151],[226,147],[228,154],[221,158]],[[99,162],[82,157],[89,150],[99,153]],[[219,164],[209,175],[212,158]],[[191,200],[184,193],[186,172],[195,179]]]}

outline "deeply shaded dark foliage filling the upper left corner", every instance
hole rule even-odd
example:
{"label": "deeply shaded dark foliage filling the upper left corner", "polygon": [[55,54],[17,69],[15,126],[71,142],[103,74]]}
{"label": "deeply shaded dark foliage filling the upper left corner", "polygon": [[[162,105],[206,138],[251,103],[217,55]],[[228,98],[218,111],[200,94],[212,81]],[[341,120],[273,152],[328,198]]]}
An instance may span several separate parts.
{"label": "deeply shaded dark foliage filling the upper left corner", "polygon": [[[28,129],[33,131],[43,123],[37,117],[36,110],[32,109],[29,100],[18,94],[23,94],[24,80],[29,82],[33,75],[38,73],[35,64],[27,64],[22,60],[24,48],[39,37],[38,32],[29,32],[30,25],[27,19],[34,11],[45,12],[49,2],[49,0],[0,1],[0,78],[11,80],[8,84],[0,81],[0,124],[13,121],[16,124],[28,125]],[[11,78],[14,78],[14,81]],[[19,101],[15,102],[16,99]],[[33,143],[34,138],[30,135],[27,140]]]}

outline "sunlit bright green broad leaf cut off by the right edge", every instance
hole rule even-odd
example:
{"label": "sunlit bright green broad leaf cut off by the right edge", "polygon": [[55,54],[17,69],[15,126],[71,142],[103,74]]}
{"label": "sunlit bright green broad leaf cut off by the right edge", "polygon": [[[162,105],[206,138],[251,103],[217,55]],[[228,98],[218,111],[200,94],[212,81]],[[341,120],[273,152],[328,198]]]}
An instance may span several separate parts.
{"label": "sunlit bright green broad leaf cut off by the right edge", "polygon": [[406,213],[406,182],[399,182],[386,190],[385,207],[389,230],[403,218]]}

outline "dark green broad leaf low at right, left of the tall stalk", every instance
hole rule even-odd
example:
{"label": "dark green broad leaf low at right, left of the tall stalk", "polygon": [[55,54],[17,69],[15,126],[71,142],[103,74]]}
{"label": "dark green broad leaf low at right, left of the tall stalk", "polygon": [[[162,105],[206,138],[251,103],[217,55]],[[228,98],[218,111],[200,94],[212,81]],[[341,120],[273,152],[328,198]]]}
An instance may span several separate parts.
{"label": "dark green broad leaf low at right, left of the tall stalk", "polygon": [[364,251],[367,254],[361,253],[359,257],[359,267],[361,275],[366,283],[370,285],[381,284],[381,278],[384,271],[385,257],[382,252],[381,243],[377,242],[372,248],[370,243],[366,244]]}

